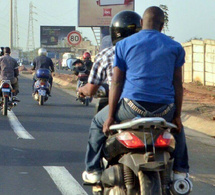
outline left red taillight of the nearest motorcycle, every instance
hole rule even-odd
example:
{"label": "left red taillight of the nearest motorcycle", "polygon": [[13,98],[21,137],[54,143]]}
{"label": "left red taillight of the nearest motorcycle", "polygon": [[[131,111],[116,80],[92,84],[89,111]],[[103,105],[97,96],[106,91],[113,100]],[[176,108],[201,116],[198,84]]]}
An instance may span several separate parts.
{"label": "left red taillight of the nearest motorcycle", "polygon": [[126,148],[143,148],[144,143],[133,133],[123,132],[117,136],[118,141]]}

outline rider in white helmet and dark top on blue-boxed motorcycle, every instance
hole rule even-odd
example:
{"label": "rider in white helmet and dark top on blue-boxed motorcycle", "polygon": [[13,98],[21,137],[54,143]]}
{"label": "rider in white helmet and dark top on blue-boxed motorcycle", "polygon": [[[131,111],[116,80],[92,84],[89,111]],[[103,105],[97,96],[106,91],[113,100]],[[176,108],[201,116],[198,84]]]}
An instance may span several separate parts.
{"label": "rider in white helmet and dark top on blue-boxed motorcycle", "polygon": [[[37,71],[39,68],[45,68],[50,70],[51,72],[54,72],[54,64],[51,58],[47,57],[47,51],[44,48],[40,48],[38,50],[38,56],[33,61],[32,70]],[[36,74],[34,74],[33,86],[32,86],[33,94],[34,94],[34,83],[36,82],[36,80],[37,80],[37,77],[36,77]],[[52,75],[50,74],[49,83],[51,87],[52,87],[52,81],[53,81],[53,78],[52,78]]]}

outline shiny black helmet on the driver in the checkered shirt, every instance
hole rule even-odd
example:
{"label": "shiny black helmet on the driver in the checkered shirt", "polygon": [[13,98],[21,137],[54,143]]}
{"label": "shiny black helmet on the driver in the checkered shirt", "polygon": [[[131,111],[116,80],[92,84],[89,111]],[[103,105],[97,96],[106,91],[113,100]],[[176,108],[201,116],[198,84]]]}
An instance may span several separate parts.
{"label": "shiny black helmet on the driver in the checkered shirt", "polygon": [[113,45],[142,28],[141,17],[134,11],[121,11],[116,14],[110,25],[110,34]]}

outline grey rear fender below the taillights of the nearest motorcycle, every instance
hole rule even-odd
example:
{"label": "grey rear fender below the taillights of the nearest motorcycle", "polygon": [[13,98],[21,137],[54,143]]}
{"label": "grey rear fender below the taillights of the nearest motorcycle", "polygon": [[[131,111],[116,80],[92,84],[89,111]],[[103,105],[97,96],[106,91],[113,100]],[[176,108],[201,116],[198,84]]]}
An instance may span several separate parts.
{"label": "grey rear fender below the taillights of the nearest motorcycle", "polygon": [[165,170],[170,155],[166,151],[156,151],[154,160],[149,161],[149,153],[128,153],[119,159],[119,163],[129,167],[136,176],[138,171],[162,171]]}

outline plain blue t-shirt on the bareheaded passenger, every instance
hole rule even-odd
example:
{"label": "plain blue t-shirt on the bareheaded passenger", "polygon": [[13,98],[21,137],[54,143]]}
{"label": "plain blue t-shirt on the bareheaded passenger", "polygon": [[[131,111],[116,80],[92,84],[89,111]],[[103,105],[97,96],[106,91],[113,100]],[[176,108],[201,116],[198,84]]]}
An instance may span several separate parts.
{"label": "plain blue t-shirt on the bareheaded passenger", "polygon": [[184,57],[180,43],[156,30],[141,30],[119,41],[113,67],[125,72],[121,98],[173,103],[173,74],[184,64]]}

